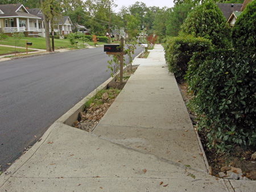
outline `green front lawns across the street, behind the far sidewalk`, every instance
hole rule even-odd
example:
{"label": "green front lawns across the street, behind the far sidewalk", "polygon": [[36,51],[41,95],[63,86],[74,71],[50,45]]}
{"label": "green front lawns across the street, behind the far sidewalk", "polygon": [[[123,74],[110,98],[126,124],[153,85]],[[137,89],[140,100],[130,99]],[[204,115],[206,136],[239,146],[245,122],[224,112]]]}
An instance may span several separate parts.
{"label": "green front lawns across the street, behind the far sidewalk", "polygon": [[[17,47],[26,47],[26,40],[28,42],[32,42],[32,46],[29,48],[35,48],[35,49],[46,49],[46,38],[44,37],[24,37],[22,40],[19,41]],[[78,41],[78,47],[83,47],[82,46],[82,41],[81,40],[76,40]],[[89,45],[94,45],[92,41],[86,42]],[[4,39],[0,41],[0,44],[2,45],[13,45],[15,46],[15,41],[13,40],[13,37],[8,37],[7,39]],[[105,43],[98,42],[97,45],[102,45]],[[72,48],[71,44],[69,43],[68,39],[54,39],[54,47],[55,49],[62,49],[62,48]]]}

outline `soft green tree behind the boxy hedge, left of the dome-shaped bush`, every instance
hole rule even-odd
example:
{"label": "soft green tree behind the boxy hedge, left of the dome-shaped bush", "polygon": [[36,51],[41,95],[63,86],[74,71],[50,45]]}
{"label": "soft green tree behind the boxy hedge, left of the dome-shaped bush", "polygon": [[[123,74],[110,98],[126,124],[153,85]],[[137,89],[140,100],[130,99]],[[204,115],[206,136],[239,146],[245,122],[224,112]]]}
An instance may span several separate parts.
{"label": "soft green tree behind the boxy hedge, left of the dome-shaped bush", "polygon": [[180,26],[187,18],[188,13],[192,11],[192,4],[175,5],[171,9],[167,9],[166,34],[169,36],[177,36]]}

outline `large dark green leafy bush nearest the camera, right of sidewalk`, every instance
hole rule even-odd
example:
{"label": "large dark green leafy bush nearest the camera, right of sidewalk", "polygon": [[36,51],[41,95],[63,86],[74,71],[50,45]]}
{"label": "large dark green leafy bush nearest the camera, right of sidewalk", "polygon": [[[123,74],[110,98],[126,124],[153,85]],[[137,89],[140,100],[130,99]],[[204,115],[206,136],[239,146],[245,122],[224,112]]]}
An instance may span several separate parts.
{"label": "large dark green leafy bush nearest the camera, right of sidewalk", "polygon": [[194,95],[189,105],[199,116],[199,130],[209,132],[209,147],[227,151],[234,145],[256,146],[255,55],[233,50],[201,53],[189,62],[187,80]]}

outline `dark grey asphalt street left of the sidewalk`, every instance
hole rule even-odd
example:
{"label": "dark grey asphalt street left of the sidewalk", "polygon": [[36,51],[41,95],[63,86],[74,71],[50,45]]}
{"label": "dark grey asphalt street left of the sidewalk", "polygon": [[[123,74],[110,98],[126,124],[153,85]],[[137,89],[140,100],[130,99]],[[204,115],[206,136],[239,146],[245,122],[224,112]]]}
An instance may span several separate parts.
{"label": "dark grey asphalt street left of the sidewalk", "polygon": [[[141,51],[136,49],[133,57]],[[108,60],[100,47],[0,62],[2,170],[55,120],[108,80]]]}

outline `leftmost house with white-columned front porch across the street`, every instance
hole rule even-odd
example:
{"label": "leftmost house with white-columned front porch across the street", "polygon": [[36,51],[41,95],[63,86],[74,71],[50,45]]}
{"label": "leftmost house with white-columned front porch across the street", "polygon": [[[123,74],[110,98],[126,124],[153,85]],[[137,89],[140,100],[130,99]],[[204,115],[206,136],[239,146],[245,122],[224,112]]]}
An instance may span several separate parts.
{"label": "leftmost house with white-columned front porch across the street", "polygon": [[38,37],[39,19],[22,4],[0,5],[0,32],[8,36],[12,32],[23,32],[25,36]]}

